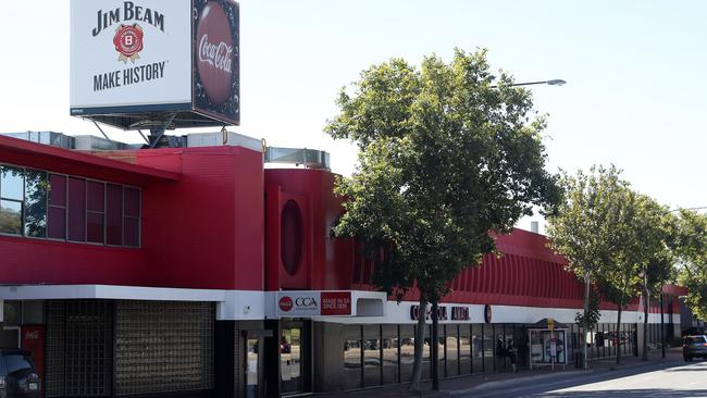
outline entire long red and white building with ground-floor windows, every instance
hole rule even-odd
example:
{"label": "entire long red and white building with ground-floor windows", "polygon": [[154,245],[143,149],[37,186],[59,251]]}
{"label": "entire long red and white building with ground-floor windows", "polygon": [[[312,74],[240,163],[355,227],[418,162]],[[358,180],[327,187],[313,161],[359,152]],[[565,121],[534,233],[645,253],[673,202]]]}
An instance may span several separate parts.
{"label": "entire long red and white building with ground-floor windows", "polygon": [[[409,376],[417,297],[388,300],[355,244],[331,236],[342,207],[323,153],[319,167],[278,169],[236,134],[160,149],[13,136],[0,136],[0,344],[33,351],[46,397],[278,396]],[[582,344],[592,358],[636,352],[637,304],[616,329],[603,303],[580,335],[583,290],[546,242],[500,236],[501,258],[454,281],[443,376],[509,369],[498,339],[516,341],[524,366],[572,363]],[[666,291],[673,336],[682,291]],[[655,344],[659,306],[650,312]]]}

